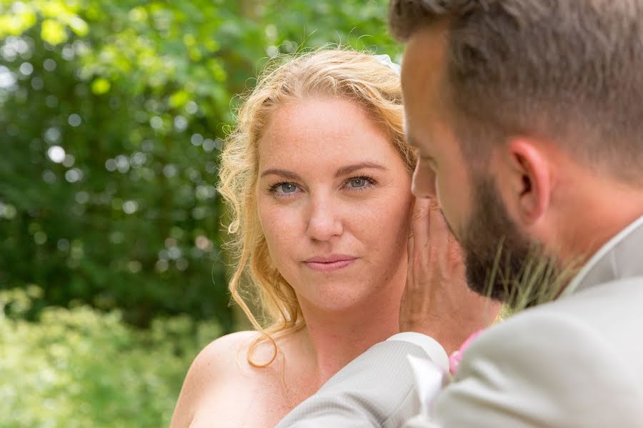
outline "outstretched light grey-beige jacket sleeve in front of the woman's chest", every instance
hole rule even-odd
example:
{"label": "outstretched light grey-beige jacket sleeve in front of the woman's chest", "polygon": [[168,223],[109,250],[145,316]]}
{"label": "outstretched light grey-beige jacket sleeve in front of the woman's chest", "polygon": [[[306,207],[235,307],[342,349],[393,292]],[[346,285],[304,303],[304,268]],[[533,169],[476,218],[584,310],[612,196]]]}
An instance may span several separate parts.
{"label": "outstretched light grey-beige jacket sleeve in front of the woman's chest", "polygon": [[277,427],[402,426],[419,411],[407,355],[428,357],[421,346],[402,340],[374,345],[299,404]]}

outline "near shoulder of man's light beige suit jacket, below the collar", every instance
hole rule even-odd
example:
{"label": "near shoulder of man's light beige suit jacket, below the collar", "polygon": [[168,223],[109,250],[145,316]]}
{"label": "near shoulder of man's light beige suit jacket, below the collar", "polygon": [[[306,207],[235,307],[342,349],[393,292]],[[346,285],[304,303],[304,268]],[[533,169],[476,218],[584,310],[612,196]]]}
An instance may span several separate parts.
{"label": "near shoulder of man's light beige suit jacket, below the collar", "polygon": [[434,403],[433,423],[640,426],[642,306],[643,277],[635,277],[526,310],[484,332]]}

